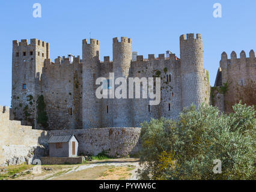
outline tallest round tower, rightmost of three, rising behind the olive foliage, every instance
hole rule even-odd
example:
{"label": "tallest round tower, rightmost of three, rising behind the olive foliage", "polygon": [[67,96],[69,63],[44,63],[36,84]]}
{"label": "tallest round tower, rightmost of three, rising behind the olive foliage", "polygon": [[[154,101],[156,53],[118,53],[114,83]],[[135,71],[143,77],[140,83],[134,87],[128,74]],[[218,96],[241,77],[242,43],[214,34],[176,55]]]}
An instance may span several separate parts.
{"label": "tallest round tower, rightmost of three, rising behind the olive foliage", "polygon": [[180,36],[180,73],[182,86],[182,106],[192,103],[200,106],[205,101],[204,62],[202,35]]}

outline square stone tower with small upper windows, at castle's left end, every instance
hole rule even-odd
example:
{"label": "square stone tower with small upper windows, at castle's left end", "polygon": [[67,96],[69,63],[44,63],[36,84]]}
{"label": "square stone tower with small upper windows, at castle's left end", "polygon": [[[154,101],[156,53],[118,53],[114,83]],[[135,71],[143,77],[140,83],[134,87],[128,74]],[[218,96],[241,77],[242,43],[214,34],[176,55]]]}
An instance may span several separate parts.
{"label": "square stone tower with small upper windows, at castle's left end", "polygon": [[[44,59],[50,57],[50,44],[31,39],[13,41],[12,100],[14,119],[34,125],[36,101],[41,90],[41,73]],[[36,128],[36,127],[35,127]]]}

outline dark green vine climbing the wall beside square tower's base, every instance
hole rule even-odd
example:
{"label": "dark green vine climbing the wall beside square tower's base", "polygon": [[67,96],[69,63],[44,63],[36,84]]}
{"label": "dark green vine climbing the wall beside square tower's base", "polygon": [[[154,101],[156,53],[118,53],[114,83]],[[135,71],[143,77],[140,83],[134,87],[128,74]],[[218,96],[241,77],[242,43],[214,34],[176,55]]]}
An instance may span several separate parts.
{"label": "dark green vine climbing the wall beside square tower's base", "polygon": [[43,95],[40,95],[37,98],[37,123],[41,124],[44,128],[47,128],[49,125],[45,107],[46,104],[44,103],[44,97]]}

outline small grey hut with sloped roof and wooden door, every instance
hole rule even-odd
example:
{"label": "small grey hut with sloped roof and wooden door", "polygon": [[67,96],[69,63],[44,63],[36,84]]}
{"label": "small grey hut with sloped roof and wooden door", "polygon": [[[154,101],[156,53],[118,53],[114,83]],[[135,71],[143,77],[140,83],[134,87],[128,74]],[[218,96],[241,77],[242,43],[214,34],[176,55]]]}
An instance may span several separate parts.
{"label": "small grey hut with sloped roof and wooden door", "polygon": [[74,135],[52,135],[48,143],[50,157],[78,156],[78,140]]}

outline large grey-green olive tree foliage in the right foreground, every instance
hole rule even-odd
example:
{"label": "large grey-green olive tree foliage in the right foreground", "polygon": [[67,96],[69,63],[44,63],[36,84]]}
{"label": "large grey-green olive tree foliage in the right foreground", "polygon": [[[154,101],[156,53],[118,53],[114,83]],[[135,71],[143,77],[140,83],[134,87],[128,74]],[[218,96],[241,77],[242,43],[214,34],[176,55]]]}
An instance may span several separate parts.
{"label": "large grey-green olive tree foliage in the right foreground", "polygon": [[[142,124],[141,179],[256,179],[254,106],[236,104],[220,114],[203,104],[184,109],[178,121]],[[213,173],[213,160],[222,173]]]}

